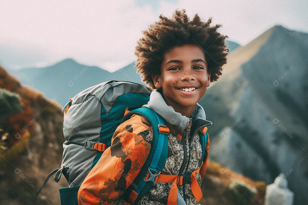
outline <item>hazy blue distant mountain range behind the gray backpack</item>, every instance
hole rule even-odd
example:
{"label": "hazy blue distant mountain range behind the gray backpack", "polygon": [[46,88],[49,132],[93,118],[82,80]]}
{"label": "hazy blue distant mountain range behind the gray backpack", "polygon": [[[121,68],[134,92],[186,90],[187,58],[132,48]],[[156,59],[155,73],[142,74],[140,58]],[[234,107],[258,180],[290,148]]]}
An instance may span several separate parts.
{"label": "hazy blue distant mountain range behind the gray backpack", "polygon": [[[240,46],[232,41],[226,41],[226,44],[230,51]],[[8,72],[16,76],[22,85],[29,85],[41,91],[48,99],[64,106],[77,93],[101,82],[122,80],[144,84],[134,67],[133,62],[110,73],[98,67],[81,65],[73,59],[65,59],[44,68],[26,68]]]}

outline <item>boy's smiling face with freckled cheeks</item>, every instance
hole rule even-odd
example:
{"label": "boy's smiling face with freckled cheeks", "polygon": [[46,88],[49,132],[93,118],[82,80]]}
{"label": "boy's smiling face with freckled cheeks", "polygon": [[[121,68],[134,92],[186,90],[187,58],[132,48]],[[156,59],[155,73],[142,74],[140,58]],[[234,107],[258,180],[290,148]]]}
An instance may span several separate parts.
{"label": "boy's smiling face with freckled cheeks", "polygon": [[203,50],[198,45],[174,46],[165,53],[160,71],[152,75],[155,87],[162,88],[164,100],[176,112],[190,117],[210,85]]}

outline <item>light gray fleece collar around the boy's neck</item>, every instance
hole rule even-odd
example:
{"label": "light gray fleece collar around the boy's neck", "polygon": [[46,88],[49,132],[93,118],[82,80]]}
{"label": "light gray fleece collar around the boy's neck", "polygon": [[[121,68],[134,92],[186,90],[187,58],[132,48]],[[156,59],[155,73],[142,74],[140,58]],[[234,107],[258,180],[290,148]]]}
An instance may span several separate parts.
{"label": "light gray fleece collar around the boy's neck", "polygon": [[[181,113],[175,112],[175,110],[166,104],[162,95],[158,90],[154,90],[150,95],[150,101],[148,104],[143,105],[142,107],[150,108],[159,114],[164,120],[169,124],[178,126],[180,129],[184,129],[189,122],[189,118],[182,116]],[[205,120],[205,112],[201,105],[197,104],[193,114],[191,116],[193,120],[202,119]]]}

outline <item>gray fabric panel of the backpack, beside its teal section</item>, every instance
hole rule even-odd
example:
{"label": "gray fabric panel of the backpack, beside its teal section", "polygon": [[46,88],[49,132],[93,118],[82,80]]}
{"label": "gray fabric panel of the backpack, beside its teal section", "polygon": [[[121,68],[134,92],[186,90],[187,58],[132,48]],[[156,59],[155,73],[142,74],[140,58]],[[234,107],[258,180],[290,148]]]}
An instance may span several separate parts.
{"label": "gray fabric panel of the backpack, beside its teal section", "polygon": [[61,165],[68,167],[66,173],[63,173],[67,178],[68,187],[80,186],[91,171],[98,151],[88,150],[84,148],[84,144],[86,141],[100,142],[102,105],[108,115],[115,100],[126,93],[150,95],[151,91],[144,85],[109,81],[85,89],[72,98],[72,104],[63,122],[66,141],[63,144]]}

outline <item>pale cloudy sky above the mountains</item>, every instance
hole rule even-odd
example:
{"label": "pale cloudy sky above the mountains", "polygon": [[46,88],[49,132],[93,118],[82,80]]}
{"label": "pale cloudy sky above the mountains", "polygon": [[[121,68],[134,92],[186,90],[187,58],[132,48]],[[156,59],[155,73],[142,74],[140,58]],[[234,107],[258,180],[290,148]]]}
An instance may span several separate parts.
{"label": "pale cloudy sky above the mountains", "polygon": [[0,65],[45,67],[66,58],[113,72],[136,60],[142,31],[185,9],[246,45],[275,25],[308,33],[306,0],[0,0]]}

